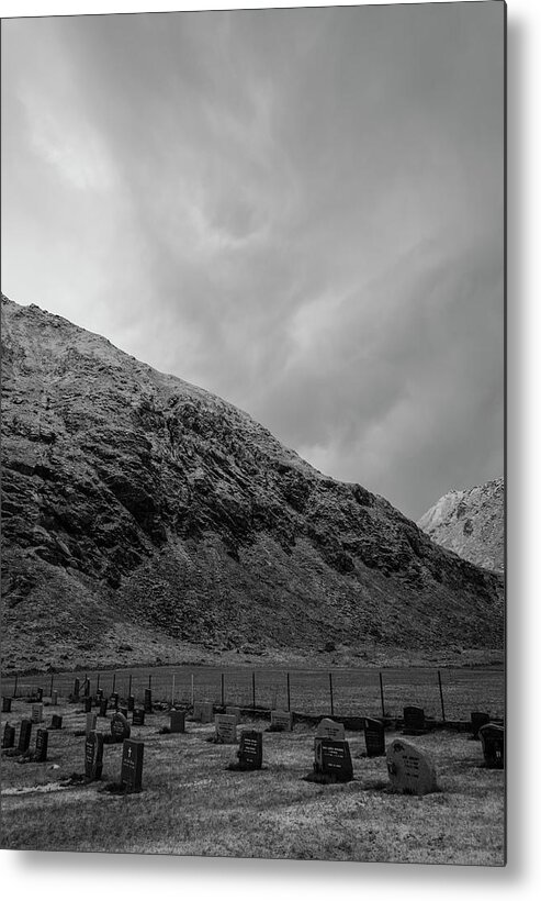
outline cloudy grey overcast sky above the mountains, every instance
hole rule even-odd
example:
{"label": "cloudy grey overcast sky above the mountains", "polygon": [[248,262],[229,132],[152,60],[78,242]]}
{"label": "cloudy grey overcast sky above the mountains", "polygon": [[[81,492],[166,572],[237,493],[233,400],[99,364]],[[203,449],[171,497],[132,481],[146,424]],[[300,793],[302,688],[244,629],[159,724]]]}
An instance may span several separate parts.
{"label": "cloudy grey overcast sky above the mountains", "polygon": [[503,475],[500,2],[2,22],[2,289],[417,519]]}

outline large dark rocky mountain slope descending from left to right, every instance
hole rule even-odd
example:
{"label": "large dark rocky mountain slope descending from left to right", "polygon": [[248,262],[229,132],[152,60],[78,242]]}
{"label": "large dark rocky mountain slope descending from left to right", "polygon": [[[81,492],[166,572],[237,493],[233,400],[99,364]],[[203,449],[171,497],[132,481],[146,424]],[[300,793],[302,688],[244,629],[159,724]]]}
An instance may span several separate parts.
{"label": "large dark rocky mountain slope descending from left to right", "polygon": [[503,645],[499,577],[221,398],[7,298],[2,431],[4,671]]}

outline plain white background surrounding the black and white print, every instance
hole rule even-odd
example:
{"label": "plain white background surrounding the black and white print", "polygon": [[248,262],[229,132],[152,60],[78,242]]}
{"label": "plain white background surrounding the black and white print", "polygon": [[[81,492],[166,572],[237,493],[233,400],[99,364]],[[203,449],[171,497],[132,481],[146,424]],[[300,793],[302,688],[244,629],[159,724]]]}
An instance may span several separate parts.
{"label": "plain white background surrounding the black and white print", "polygon": [[[420,0],[424,2],[424,0]],[[444,2],[446,0],[437,0]],[[477,0],[463,0],[476,2]],[[499,0],[485,0],[485,2]],[[377,3],[373,0],[372,4]],[[235,9],[291,5],[335,5],[312,2],[177,2],[167,0],[0,0],[0,15],[61,15],[168,10]],[[342,2],[341,5],[361,5]],[[170,893],[174,897],[241,901],[257,897],[271,901],[309,896],[319,901],[329,894],[375,893],[401,901],[452,899],[457,891],[484,901],[529,899],[541,886],[538,850],[539,693],[534,661],[539,657],[540,604],[537,587],[536,526],[541,510],[539,494],[541,447],[536,411],[541,386],[541,304],[534,302],[539,285],[539,233],[534,221],[541,209],[541,158],[538,109],[541,85],[541,3],[509,0],[508,4],[508,865],[501,869],[476,867],[419,867],[415,865],[330,864],[325,861],[270,861],[159,857],[143,855],[88,855],[68,853],[0,852],[4,897],[38,896],[42,901],[94,901],[97,894],[139,898]],[[528,186],[528,187],[526,187]],[[536,225],[538,226],[536,229]],[[537,277],[537,278],[536,278]],[[538,290],[536,291],[536,287]],[[530,719],[528,719],[530,718]],[[512,735],[517,738],[514,739]]]}

